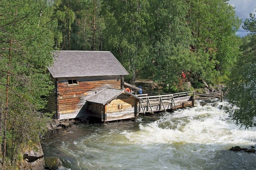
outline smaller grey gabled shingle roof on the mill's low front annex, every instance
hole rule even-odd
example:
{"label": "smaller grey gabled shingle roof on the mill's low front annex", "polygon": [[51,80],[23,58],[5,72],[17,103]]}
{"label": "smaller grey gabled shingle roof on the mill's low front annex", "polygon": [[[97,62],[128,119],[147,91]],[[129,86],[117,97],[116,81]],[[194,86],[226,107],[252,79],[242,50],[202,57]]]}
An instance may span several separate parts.
{"label": "smaller grey gabled shingle roof on the mill's low front annex", "polygon": [[119,96],[123,92],[128,95],[131,95],[135,99],[142,100],[138,96],[136,96],[130,92],[127,92],[126,90],[106,88],[106,89],[102,90],[101,92],[99,92],[98,94],[95,94],[94,96],[90,97],[86,101],[100,103],[100,104],[105,105],[105,104],[111,102],[112,100],[114,100],[117,96]]}

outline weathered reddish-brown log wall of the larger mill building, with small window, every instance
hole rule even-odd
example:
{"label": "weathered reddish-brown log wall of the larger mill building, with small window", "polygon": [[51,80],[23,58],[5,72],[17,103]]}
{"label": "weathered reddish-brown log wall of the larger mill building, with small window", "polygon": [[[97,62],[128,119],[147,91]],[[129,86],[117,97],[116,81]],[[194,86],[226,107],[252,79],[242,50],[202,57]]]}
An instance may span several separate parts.
{"label": "weathered reddish-brown log wall of the larger mill building, with small window", "polygon": [[[57,81],[57,117],[59,120],[83,117],[87,114],[86,99],[106,87],[121,88],[121,76],[63,78]],[[68,79],[77,79],[78,85],[67,85]]]}

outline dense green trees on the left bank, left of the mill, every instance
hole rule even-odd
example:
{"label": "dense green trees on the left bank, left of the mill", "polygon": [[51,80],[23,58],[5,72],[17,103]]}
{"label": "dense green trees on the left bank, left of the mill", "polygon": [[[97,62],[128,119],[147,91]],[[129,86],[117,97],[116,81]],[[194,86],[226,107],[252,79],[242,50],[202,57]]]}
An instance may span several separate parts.
{"label": "dense green trees on the left bank, left of the mill", "polygon": [[46,104],[41,96],[54,87],[46,71],[53,61],[57,26],[52,19],[54,5],[47,2],[3,0],[0,5],[0,126],[1,134],[6,132],[6,156],[12,165],[21,145],[37,140],[47,121],[38,110]]}

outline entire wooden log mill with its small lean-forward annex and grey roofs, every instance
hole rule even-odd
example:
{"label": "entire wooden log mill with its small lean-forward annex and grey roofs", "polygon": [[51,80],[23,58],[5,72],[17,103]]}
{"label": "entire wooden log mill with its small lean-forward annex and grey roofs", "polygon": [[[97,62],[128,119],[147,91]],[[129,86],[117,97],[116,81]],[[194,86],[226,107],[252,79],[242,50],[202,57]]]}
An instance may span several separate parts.
{"label": "entire wooden log mill with its small lean-forward annex and grey roofs", "polygon": [[[106,120],[134,118],[139,97],[124,91],[129,73],[109,51],[56,51],[48,67],[55,84],[46,111],[55,118],[93,115]],[[123,114],[123,115],[122,115]]]}

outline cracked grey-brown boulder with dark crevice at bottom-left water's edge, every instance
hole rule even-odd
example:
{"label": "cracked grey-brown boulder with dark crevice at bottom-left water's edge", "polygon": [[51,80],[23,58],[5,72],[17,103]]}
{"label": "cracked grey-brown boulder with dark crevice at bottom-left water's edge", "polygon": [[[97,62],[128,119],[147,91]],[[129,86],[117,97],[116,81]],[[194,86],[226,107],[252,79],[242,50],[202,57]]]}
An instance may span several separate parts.
{"label": "cracked grey-brown boulder with dark crevice at bottom-left water's edge", "polygon": [[23,150],[24,169],[43,170],[44,169],[44,153],[40,141],[30,143]]}

